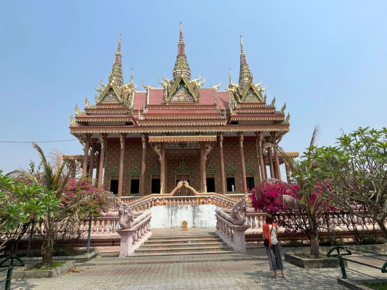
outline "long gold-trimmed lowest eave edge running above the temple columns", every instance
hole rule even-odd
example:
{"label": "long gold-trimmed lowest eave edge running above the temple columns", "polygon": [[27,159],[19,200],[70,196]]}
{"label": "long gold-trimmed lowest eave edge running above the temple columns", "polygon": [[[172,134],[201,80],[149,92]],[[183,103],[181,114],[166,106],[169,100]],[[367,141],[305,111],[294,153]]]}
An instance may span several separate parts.
{"label": "long gold-trimmed lowest eave edge running above the temple columns", "polygon": [[70,126],[70,133],[195,133],[195,132],[289,132],[289,124],[257,125],[257,126],[213,126],[213,127],[129,127],[129,126]]}

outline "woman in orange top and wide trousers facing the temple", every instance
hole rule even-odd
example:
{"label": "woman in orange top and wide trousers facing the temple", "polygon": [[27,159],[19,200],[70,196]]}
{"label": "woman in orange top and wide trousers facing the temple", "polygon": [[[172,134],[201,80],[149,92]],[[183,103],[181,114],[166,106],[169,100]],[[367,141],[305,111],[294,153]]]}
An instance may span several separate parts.
{"label": "woman in orange top and wide trousers facing the temple", "polygon": [[266,215],[266,224],[263,226],[264,239],[268,241],[264,242],[266,246],[266,252],[269,257],[270,270],[274,272],[274,279],[277,279],[277,270],[281,270],[283,278],[286,278],[284,272],[284,265],[282,264],[282,258],[280,253],[280,246],[278,245],[278,227],[273,223],[273,216],[271,214]]}

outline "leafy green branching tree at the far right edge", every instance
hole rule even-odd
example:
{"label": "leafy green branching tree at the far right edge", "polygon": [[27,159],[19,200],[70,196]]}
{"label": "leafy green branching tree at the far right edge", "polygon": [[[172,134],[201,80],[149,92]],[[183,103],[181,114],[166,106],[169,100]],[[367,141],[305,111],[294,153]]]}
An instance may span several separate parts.
{"label": "leafy green branching tree at the far right edge", "polygon": [[311,158],[319,164],[324,195],[360,218],[373,219],[387,241],[387,129],[359,127],[321,147]]}

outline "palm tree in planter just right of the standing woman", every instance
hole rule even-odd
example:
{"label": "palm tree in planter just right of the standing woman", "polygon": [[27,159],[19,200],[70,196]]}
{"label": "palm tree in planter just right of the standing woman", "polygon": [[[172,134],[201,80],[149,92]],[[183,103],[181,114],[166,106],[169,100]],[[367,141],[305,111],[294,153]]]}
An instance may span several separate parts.
{"label": "palm tree in planter just right of the standing woman", "polygon": [[[261,183],[263,188],[267,184],[277,185],[276,188],[280,191],[279,200],[292,211],[292,215],[295,218],[298,216],[299,220],[297,222],[299,225],[300,223],[302,224],[303,231],[310,240],[310,255],[314,257],[319,256],[318,229],[327,208],[326,200],[319,194],[319,180],[315,174],[315,170],[318,167],[311,159],[311,153],[315,148],[314,142],[318,133],[319,129],[316,126],[314,127],[309,147],[300,161],[287,156],[275,144],[267,143],[265,145],[278,150],[291,171],[292,180],[298,184],[299,190],[292,186],[292,184],[275,178],[268,178]],[[259,191],[256,194],[259,195]]]}

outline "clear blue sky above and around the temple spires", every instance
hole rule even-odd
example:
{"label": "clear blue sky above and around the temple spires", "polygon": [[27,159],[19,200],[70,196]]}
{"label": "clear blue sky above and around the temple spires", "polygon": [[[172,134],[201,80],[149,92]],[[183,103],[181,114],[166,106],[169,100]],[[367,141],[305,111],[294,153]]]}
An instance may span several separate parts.
{"label": "clear blue sky above and around the temple spires", "polygon": [[[239,74],[239,35],[254,80],[268,101],[287,103],[287,151],[302,152],[314,125],[318,145],[361,126],[386,126],[387,2],[385,1],[1,1],[2,141],[74,138],[74,105],[94,101],[107,81],[118,34],[124,79],[141,87],[171,77],[179,21],[192,76],[205,86]],[[75,141],[41,144],[45,152],[82,154]],[[0,169],[38,160],[30,144],[0,143]]]}

